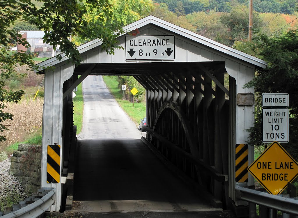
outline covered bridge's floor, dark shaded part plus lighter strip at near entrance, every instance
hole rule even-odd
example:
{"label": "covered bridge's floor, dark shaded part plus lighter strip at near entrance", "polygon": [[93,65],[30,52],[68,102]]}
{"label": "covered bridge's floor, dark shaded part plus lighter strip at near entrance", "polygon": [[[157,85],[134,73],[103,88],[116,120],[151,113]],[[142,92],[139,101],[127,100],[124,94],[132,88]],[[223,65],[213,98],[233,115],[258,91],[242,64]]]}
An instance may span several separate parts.
{"label": "covered bridge's floor, dark shaded part plus lighter strip at near entrance", "polygon": [[75,210],[215,211],[136,139],[80,140]]}

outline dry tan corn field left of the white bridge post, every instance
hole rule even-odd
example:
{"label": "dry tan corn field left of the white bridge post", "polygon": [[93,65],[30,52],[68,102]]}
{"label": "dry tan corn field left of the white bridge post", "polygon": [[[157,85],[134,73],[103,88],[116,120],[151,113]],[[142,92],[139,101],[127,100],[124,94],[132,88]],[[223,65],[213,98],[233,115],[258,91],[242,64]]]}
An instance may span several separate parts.
{"label": "dry tan corn field left of the white bridge post", "polygon": [[7,108],[4,111],[13,114],[14,117],[13,120],[2,123],[9,130],[0,133],[7,137],[6,141],[0,142],[0,152],[7,146],[24,140],[26,136],[42,126],[43,103],[43,98],[37,98],[35,101],[23,99],[18,103],[5,103]]}

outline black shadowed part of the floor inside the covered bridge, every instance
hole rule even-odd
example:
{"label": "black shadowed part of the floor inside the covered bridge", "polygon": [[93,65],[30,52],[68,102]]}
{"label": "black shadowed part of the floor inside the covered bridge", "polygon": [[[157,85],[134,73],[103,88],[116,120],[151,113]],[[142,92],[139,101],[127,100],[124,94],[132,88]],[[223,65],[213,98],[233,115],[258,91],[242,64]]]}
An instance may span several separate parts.
{"label": "black shadowed part of the floor inside the covered bridge", "polygon": [[201,202],[137,139],[80,140],[74,200]]}

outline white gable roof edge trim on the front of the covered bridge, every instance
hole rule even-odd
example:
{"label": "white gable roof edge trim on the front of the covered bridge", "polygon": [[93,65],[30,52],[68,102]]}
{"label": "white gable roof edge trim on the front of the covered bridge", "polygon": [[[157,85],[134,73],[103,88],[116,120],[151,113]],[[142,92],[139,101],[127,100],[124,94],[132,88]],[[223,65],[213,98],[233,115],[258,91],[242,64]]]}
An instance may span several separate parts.
{"label": "white gable roof edge trim on the front of the covered bridge", "polygon": [[[267,66],[266,61],[263,61],[259,58],[252,56],[252,55],[248,55],[244,52],[238,51],[234,48],[231,48],[229,46],[226,46],[224,44],[216,42],[212,39],[209,39],[209,38],[199,35],[197,33],[193,33],[189,30],[186,30],[182,27],[171,24],[167,21],[164,21],[164,20],[159,19],[152,15],[142,18],[138,21],[135,21],[134,23],[128,24],[127,26],[123,27],[123,30],[125,31],[125,33],[123,33],[122,35],[125,35],[128,32],[135,30],[136,28],[139,29],[147,24],[154,24],[154,25],[164,28],[168,31],[171,31],[177,35],[181,35],[181,36],[186,37],[190,40],[198,42],[200,44],[204,44],[207,47],[210,47],[212,49],[215,49],[219,52],[222,52],[226,55],[240,59],[242,61],[248,62],[255,66],[262,67],[262,68],[266,68],[266,66]],[[102,40],[97,38],[97,39],[94,39],[92,41],[89,41],[85,44],[78,46],[77,49],[80,53],[83,53],[83,52],[93,49],[94,47],[100,46],[101,44],[102,44]],[[61,61],[56,59],[56,57],[53,57],[53,58],[50,58],[46,61],[39,63],[38,66],[41,66],[41,67],[54,66],[55,64],[58,64],[62,61],[66,61],[67,59],[69,59],[68,57],[65,56],[64,53],[62,53],[61,56],[62,56]]]}

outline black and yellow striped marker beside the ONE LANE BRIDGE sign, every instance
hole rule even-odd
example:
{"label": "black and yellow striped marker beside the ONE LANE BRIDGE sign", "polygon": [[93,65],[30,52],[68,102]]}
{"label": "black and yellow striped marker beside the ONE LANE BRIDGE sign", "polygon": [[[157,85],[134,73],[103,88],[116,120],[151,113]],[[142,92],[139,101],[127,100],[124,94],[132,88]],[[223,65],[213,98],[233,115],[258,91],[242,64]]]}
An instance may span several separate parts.
{"label": "black and yellow striped marker beside the ONE LANE BRIDGE sign", "polygon": [[236,182],[248,181],[248,144],[236,145]]}

